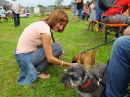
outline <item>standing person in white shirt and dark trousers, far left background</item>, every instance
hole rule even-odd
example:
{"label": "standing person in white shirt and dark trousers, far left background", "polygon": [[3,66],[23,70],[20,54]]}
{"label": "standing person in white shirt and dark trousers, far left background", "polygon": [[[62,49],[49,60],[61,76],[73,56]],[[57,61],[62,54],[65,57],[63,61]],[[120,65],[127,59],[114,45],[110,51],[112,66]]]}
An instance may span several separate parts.
{"label": "standing person in white shirt and dark trousers, far left background", "polygon": [[15,27],[20,26],[20,15],[19,12],[21,10],[21,4],[17,0],[12,0],[10,2],[10,8],[13,11],[13,16],[14,16],[14,25]]}

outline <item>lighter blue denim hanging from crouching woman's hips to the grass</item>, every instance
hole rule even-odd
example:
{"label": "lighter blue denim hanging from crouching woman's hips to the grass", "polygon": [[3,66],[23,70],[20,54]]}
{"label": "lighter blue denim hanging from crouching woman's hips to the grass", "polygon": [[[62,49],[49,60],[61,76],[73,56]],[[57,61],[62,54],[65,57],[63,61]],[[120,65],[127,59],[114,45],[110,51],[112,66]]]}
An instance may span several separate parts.
{"label": "lighter blue denim hanging from crouching woman's hips to the grass", "polygon": [[16,50],[13,51],[17,64],[20,68],[20,73],[17,79],[19,85],[26,85],[33,83],[37,78],[37,71],[30,61],[31,52],[16,54]]}

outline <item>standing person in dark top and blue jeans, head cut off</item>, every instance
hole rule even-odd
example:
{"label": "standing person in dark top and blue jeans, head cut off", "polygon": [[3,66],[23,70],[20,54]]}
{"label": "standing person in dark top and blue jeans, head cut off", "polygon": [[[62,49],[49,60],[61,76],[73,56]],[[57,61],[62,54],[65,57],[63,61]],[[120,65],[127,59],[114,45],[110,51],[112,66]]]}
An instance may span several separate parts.
{"label": "standing person in dark top and blue jeans, head cut off", "polygon": [[82,22],[83,0],[76,0],[76,3],[80,22]]}

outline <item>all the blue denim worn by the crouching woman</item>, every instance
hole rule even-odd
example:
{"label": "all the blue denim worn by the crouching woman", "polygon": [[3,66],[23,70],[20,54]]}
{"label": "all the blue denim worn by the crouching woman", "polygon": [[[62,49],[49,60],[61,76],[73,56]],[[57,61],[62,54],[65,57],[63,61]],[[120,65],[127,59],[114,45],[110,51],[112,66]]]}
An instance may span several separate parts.
{"label": "all the blue denim worn by the crouching woman", "polygon": [[[52,44],[52,50],[55,57],[62,53],[61,46],[58,43]],[[42,46],[34,52],[16,54],[16,50],[14,50],[13,54],[20,68],[17,79],[19,85],[32,84],[38,78],[37,71],[44,70],[49,64]]]}

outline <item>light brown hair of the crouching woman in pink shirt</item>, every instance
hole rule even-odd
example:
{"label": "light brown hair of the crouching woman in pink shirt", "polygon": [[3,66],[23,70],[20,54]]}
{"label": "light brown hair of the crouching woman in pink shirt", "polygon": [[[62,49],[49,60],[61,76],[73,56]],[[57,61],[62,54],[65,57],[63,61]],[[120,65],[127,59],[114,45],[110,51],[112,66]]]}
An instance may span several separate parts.
{"label": "light brown hair of the crouching woman in pink shirt", "polygon": [[[67,24],[68,23],[68,16],[63,10],[55,9],[48,16],[48,18],[44,19],[44,21],[50,26],[50,28],[52,28],[53,26],[55,26],[59,22],[65,22]],[[66,24],[64,25],[63,29],[59,32],[64,31]]]}

